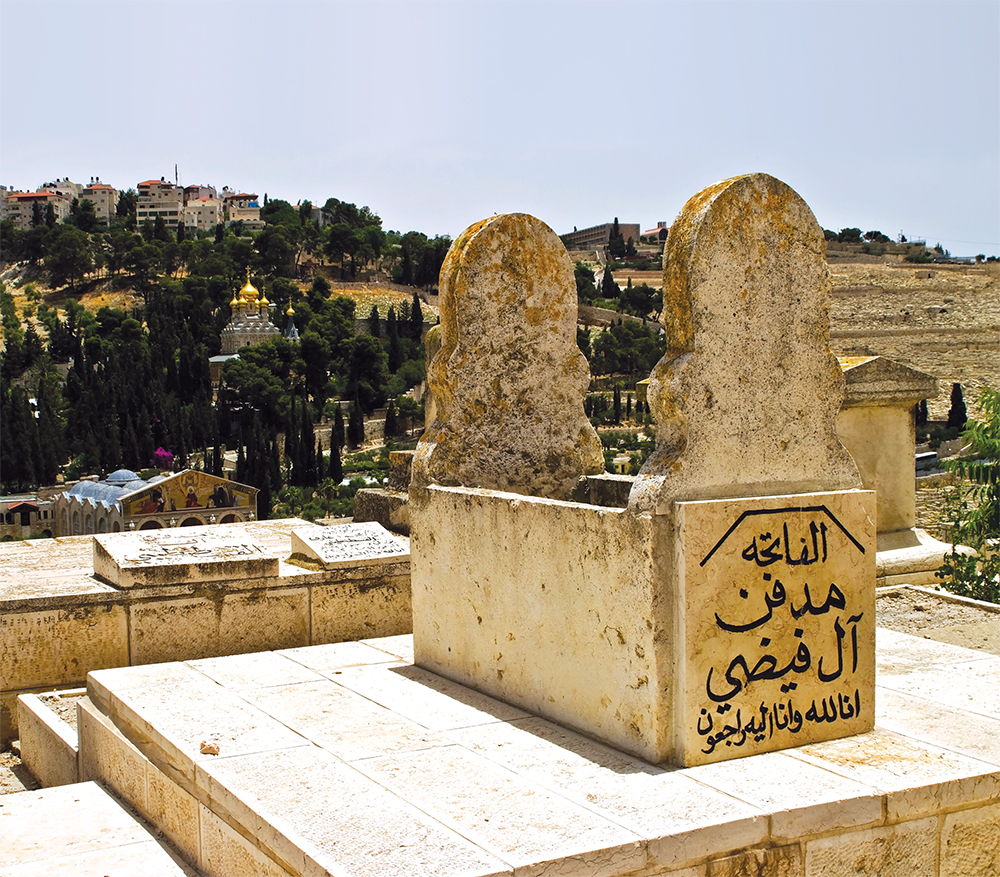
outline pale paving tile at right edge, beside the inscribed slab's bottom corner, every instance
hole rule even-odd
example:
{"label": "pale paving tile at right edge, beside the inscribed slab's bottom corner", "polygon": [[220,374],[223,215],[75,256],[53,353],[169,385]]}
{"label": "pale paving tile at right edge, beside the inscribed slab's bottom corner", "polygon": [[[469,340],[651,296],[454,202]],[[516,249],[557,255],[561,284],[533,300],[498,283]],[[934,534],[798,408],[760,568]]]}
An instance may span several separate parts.
{"label": "pale paving tile at right edge, beside the inscribed slab's bottom corner", "polygon": [[875,717],[880,728],[1000,765],[1000,720],[882,687]]}

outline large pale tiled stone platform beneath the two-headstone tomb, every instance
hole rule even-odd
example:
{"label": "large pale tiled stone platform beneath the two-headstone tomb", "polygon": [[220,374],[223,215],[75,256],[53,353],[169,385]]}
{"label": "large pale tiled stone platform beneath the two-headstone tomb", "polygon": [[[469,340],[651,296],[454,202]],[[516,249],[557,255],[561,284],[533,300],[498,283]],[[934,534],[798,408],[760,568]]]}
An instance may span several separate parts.
{"label": "large pale tiled stone platform beneath the two-headstone tomb", "polygon": [[995,877],[1000,658],[876,643],[871,733],[686,769],[416,667],[408,636],[92,672],[81,765],[206,874]]}

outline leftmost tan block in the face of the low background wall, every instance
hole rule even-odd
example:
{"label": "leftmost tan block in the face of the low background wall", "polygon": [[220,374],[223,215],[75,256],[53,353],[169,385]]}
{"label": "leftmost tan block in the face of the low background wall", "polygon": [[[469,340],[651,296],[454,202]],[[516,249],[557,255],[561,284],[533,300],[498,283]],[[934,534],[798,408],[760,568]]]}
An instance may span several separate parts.
{"label": "leftmost tan block in the face of the low background wall", "polygon": [[0,690],[82,683],[90,670],[127,664],[127,644],[122,606],[0,612]]}

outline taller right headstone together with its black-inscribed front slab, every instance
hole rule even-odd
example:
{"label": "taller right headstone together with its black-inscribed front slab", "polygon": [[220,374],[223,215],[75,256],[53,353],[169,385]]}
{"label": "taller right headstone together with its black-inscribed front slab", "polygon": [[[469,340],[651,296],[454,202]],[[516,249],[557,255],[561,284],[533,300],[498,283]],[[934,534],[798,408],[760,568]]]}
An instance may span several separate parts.
{"label": "taller right headstone together with its black-inscribed front slab", "polygon": [[673,759],[697,764],[874,724],[874,495],[841,445],[823,232],[766,174],[671,227],[652,512],[674,595]]}

